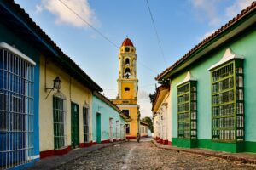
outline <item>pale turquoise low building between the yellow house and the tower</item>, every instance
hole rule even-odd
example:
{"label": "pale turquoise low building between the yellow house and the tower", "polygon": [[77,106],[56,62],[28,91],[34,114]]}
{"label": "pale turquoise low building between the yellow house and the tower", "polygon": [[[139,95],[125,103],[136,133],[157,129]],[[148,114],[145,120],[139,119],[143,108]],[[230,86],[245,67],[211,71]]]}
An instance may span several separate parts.
{"label": "pale turquoise low building between the yellow house and the tower", "polygon": [[125,119],[122,113],[102,94],[93,93],[92,98],[93,144],[109,143],[125,139]]}

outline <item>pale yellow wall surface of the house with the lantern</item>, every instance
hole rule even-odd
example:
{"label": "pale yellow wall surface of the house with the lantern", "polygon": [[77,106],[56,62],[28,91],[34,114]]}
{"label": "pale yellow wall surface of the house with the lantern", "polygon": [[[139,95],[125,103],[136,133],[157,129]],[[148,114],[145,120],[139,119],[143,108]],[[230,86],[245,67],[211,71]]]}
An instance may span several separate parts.
{"label": "pale yellow wall surface of the house with the lantern", "polygon": [[[83,129],[83,106],[87,103],[90,107],[90,117],[92,108],[92,92],[89,88],[84,87],[80,82],[70,77],[60,67],[51,61],[46,62],[46,86],[53,87],[55,77],[60,77],[61,93],[66,97],[66,130],[67,143],[71,145],[71,102],[79,105],[79,140],[84,142]],[[53,125],[53,94],[56,90],[49,94],[49,90],[44,90],[45,83],[45,57],[40,56],[40,86],[39,86],[39,138],[40,151],[54,149],[54,125]],[[48,98],[45,97],[49,94]],[[92,122],[90,122],[91,124]],[[90,139],[91,128],[90,128]]]}

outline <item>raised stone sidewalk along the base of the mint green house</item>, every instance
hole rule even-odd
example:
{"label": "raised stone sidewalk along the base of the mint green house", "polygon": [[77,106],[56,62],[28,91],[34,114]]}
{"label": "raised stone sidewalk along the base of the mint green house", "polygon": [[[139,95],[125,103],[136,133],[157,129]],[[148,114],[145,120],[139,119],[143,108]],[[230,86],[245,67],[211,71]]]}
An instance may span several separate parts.
{"label": "raised stone sidewalk along the base of the mint green house", "polygon": [[199,154],[202,156],[214,156],[222,159],[230,160],[230,161],[241,161],[242,163],[252,163],[256,164],[256,154],[252,153],[227,153],[227,152],[218,152],[212,150],[205,150],[199,148],[178,148],[177,146],[163,145],[157,143],[155,140],[152,140],[152,143],[158,148],[167,149],[167,150],[175,150],[177,152],[183,151],[192,154]]}

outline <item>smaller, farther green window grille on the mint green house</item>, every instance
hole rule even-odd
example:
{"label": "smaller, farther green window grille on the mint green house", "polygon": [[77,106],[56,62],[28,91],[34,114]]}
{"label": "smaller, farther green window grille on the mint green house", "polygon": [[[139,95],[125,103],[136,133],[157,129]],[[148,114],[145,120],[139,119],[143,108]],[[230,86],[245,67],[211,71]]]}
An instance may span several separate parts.
{"label": "smaller, farther green window grille on the mint green house", "polygon": [[179,139],[196,139],[196,81],[177,86],[177,134]]}

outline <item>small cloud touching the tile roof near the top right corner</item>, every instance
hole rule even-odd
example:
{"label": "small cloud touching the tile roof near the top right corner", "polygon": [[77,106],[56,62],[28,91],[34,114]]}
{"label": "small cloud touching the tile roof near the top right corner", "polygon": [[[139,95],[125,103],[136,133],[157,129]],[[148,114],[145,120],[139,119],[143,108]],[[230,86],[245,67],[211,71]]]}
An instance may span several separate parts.
{"label": "small cloud touching the tile roof near the top right corner", "polygon": [[247,8],[254,0],[236,0],[230,7],[226,8],[226,15],[231,19],[239,14],[242,9]]}

